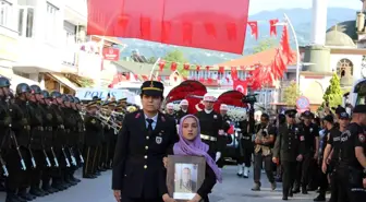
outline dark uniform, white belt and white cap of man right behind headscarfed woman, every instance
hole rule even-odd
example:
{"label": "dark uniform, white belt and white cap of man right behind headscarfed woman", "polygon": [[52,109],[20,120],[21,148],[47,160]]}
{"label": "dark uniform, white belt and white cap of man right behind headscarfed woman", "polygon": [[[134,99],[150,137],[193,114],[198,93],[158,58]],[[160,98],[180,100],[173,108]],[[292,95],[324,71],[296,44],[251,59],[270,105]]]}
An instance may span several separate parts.
{"label": "dark uniform, white belt and white cap of man right behind headscarfed woman", "polygon": [[[213,103],[216,102],[216,98],[213,96],[206,94],[204,96],[204,102]],[[213,159],[218,161],[221,157],[221,152],[227,146],[227,142],[218,140],[220,130],[222,131],[222,134],[220,135],[223,135],[222,117],[213,109],[211,109],[210,111],[208,110],[198,111],[196,114],[196,117],[199,120],[200,139],[203,140],[203,142],[209,145],[208,154]]]}

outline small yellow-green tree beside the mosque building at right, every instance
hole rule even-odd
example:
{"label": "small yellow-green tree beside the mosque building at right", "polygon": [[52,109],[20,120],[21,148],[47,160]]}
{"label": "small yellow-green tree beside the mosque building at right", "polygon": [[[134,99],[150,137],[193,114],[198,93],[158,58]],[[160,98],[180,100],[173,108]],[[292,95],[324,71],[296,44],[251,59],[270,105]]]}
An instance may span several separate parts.
{"label": "small yellow-green tree beside the mosque building at right", "polygon": [[329,107],[337,107],[342,104],[341,81],[337,73],[333,74],[329,83],[330,85],[322,96],[322,106],[326,106],[326,103],[329,103]]}

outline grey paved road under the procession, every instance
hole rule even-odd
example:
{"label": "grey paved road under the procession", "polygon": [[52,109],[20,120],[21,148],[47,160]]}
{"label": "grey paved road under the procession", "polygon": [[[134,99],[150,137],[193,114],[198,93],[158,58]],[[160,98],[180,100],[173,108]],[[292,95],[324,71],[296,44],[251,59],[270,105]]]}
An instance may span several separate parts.
{"label": "grey paved road under the procession", "polygon": [[[80,177],[80,173],[77,174]],[[276,191],[270,191],[266,176],[263,175],[263,188],[260,192],[251,191],[253,178],[244,179],[235,175],[235,167],[225,167],[223,169],[224,180],[216,185],[210,194],[210,202],[272,202],[282,201],[281,185],[278,185]],[[252,176],[251,176],[252,177]],[[34,202],[113,202],[114,198],[110,189],[111,171],[102,173],[97,179],[83,179],[81,183],[63,192],[39,198]],[[4,201],[4,193],[0,193],[0,201]],[[293,201],[310,202],[315,193],[308,195],[295,195]]]}

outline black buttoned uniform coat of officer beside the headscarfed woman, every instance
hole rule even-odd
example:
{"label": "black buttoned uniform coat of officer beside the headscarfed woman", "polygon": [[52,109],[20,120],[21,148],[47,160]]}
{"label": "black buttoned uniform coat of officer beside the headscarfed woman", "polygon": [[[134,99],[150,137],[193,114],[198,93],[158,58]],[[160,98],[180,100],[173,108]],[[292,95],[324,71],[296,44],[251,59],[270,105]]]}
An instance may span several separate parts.
{"label": "black buttoned uniform coat of officer beside the headscarfed woman", "polygon": [[121,190],[122,198],[161,199],[162,158],[178,141],[175,121],[163,114],[159,112],[150,136],[144,112],[127,114],[115,145],[112,189]]}

